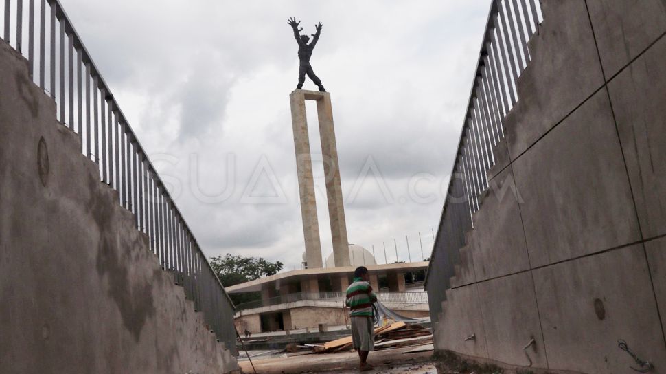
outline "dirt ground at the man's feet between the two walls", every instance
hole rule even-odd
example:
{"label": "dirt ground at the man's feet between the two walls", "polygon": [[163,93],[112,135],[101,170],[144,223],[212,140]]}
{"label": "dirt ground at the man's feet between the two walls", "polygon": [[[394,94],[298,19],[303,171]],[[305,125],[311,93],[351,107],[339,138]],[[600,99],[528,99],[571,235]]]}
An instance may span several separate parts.
{"label": "dirt ground at the man's feet between the two walls", "polygon": [[[432,347],[432,346],[430,346]],[[369,374],[499,374],[516,373],[503,371],[494,365],[477,365],[461,360],[454,355],[433,357],[433,351],[411,353],[418,347],[404,347],[371,352],[369,364],[375,366]],[[264,358],[252,360],[258,374],[296,373],[358,373],[356,352],[299,355],[290,358]],[[253,373],[250,362],[239,362],[243,373]],[[518,371],[531,373],[531,371]]]}

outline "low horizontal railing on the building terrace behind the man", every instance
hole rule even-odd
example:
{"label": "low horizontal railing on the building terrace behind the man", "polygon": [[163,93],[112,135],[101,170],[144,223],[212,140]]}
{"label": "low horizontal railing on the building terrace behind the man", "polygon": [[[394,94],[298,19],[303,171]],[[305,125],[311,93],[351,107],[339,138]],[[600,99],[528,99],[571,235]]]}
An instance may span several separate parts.
{"label": "low horizontal railing on the building terrace behind the man", "polygon": [[[344,301],[346,292],[297,292],[275,296],[266,300],[254,300],[236,305],[236,310],[247,310],[271,305],[295,303],[301,300]],[[378,292],[377,299],[382,303],[428,304],[427,292]]]}

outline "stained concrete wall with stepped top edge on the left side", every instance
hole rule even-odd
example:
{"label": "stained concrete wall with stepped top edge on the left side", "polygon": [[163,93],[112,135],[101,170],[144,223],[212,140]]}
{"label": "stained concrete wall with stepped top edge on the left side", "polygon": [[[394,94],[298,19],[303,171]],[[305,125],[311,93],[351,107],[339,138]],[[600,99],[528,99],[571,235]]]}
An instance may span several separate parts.
{"label": "stained concrete wall with stepped top edge on the left side", "polygon": [[55,110],[0,41],[0,372],[238,369]]}

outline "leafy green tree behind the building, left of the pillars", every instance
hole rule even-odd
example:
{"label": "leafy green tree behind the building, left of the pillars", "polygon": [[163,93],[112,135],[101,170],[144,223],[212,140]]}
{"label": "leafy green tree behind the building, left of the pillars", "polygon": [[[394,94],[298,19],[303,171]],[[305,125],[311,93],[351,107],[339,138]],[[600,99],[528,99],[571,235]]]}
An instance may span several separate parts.
{"label": "leafy green tree behind the building, left of the pillars", "polygon": [[[212,257],[210,264],[225,287],[275,275],[282,270],[283,266],[281,261],[272,263],[262,257],[245,257],[233,254]],[[229,296],[231,296],[233,303],[237,305],[261,298],[260,292],[245,292],[243,294],[230,294]]]}

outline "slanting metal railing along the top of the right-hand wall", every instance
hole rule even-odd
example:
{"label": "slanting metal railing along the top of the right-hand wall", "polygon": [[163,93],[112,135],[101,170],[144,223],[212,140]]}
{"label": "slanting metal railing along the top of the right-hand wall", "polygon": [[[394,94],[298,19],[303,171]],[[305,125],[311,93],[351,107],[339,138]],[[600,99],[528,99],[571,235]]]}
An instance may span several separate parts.
{"label": "slanting metal railing along the top of the right-hand wall", "polygon": [[474,227],[472,214],[479,210],[489,184],[487,172],[495,164],[494,146],[504,137],[507,113],[518,101],[516,85],[530,61],[527,42],[542,21],[535,0],[493,0],[476,64],[466,118],[451,171],[447,199],[439,221],[426,287],[430,289],[430,315],[441,311],[450,287],[459,248],[465,233]]}

